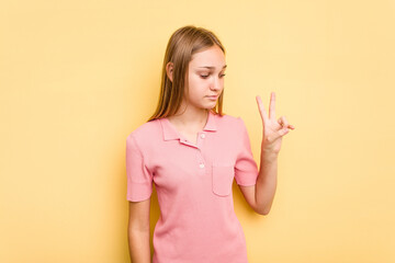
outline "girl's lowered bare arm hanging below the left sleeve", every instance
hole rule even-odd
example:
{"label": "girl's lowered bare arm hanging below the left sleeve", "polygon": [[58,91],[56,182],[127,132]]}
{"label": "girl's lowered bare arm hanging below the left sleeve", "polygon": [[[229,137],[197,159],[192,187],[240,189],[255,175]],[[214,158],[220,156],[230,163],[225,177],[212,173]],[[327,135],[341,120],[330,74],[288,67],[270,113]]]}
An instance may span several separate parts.
{"label": "girl's lowered bare arm hanging below the left sleeve", "polygon": [[150,198],[129,202],[127,238],[132,263],[150,263],[149,206]]}

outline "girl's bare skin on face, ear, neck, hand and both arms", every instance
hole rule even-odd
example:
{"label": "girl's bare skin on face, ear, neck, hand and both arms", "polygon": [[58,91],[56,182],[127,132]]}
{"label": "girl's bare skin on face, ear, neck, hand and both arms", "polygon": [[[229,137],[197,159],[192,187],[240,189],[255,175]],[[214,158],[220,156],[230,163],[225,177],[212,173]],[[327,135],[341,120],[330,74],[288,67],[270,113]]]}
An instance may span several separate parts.
{"label": "girl's bare skin on face, ear, neck, hand and both arms", "polygon": [[[207,121],[207,111],[215,107],[216,100],[210,95],[219,95],[224,89],[225,56],[219,47],[213,46],[194,54],[189,65],[190,94],[182,101],[180,111],[169,121],[188,140],[196,144],[198,133]],[[211,66],[212,69],[201,68]],[[172,65],[167,65],[167,73],[172,81]],[[276,188],[278,156],[282,137],[294,129],[284,116],[275,117],[275,93],[271,93],[269,115],[262,100],[256,96],[262,119],[263,134],[261,159],[256,185],[239,185],[250,207],[260,215],[268,215]],[[149,247],[149,208],[150,198],[142,202],[129,202],[128,247],[132,262],[150,262]]]}

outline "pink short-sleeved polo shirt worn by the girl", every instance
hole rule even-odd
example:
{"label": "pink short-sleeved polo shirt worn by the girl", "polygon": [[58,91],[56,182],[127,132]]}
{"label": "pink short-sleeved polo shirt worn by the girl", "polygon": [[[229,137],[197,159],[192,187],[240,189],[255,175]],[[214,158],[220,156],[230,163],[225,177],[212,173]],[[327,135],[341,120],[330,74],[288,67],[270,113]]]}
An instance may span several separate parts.
{"label": "pink short-sleeved polo shirt worn by the girl", "polygon": [[232,184],[255,185],[258,167],[240,117],[210,112],[196,145],[168,118],[147,122],[126,139],[126,173],[127,201],[157,190],[153,263],[248,262]]}

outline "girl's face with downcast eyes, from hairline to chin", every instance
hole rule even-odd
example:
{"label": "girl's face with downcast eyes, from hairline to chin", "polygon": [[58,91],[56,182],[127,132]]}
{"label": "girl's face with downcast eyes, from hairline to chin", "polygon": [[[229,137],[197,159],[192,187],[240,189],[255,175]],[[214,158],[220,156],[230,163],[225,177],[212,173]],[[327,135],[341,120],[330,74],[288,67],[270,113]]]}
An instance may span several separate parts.
{"label": "girl's face with downcast eyes, from hairline to chin", "polygon": [[184,103],[196,108],[215,107],[224,89],[225,69],[225,55],[218,46],[195,53],[189,64],[189,94],[185,93]]}

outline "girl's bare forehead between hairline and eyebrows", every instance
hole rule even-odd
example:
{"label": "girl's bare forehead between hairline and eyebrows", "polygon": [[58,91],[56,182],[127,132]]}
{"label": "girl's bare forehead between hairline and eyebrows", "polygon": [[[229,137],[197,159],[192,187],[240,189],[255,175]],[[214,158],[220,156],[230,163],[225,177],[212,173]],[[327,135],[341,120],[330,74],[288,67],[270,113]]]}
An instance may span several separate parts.
{"label": "girl's bare forehead between hairline and eyebrows", "polygon": [[223,50],[214,45],[207,49],[195,53],[192,55],[192,60],[190,61],[190,66],[192,67],[216,67],[223,68],[225,66],[225,55]]}

